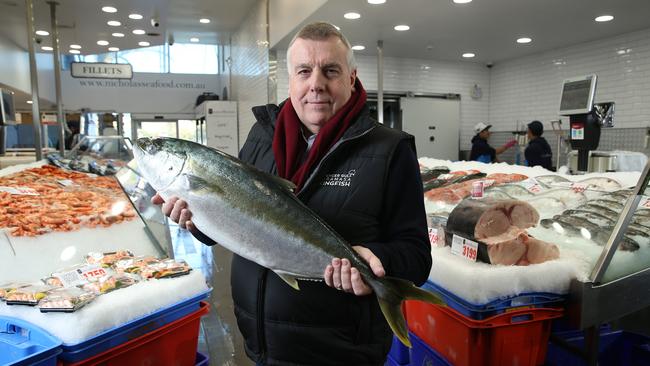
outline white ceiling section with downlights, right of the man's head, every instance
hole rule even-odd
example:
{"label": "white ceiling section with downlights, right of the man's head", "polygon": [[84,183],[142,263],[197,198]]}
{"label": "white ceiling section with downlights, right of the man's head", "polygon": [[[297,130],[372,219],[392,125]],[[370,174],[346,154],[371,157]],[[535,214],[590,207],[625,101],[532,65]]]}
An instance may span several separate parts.
{"label": "white ceiling section with downlights, right of the man's head", "polygon": [[[361,18],[344,19],[349,11]],[[596,23],[603,14],[614,20]],[[384,56],[462,60],[462,53],[473,52],[472,61],[488,63],[650,28],[650,0],[329,0],[303,24],[316,20],[336,24],[353,45],[366,46],[358,54],[376,55],[383,40]],[[398,24],[411,29],[397,32]],[[517,44],[523,36],[533,42]],[[289,40],[275,48],[286,49]]]}

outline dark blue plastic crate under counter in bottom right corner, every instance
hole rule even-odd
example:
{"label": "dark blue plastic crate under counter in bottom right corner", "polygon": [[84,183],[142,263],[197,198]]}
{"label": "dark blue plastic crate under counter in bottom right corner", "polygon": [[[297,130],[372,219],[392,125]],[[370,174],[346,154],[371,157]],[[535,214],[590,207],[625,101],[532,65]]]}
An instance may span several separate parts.
{"label": "dark blue plastic crate under counter in bottom right corner", "polygon": [[[556,333],[569,344],[584,349],[585,337],[581,331]],[[605,328],[600,332],[598,364],[601,366],[650,365],[650,337]],[[554,342],[549,342],[546,365],[586,365],[584,359]]]}

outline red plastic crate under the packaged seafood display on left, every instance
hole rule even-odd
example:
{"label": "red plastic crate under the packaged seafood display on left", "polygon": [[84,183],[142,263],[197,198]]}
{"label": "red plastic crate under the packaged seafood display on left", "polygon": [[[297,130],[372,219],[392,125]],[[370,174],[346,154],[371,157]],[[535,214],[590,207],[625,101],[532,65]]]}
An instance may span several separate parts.
{"label": "red plastic crate under the packaged seafood display on left", "polygon": [[76,363],[59,362],[64,366],[193,366],[199,341],[201,317],[210,305],[201,301],[199,310],[164,325],[138,338]]}

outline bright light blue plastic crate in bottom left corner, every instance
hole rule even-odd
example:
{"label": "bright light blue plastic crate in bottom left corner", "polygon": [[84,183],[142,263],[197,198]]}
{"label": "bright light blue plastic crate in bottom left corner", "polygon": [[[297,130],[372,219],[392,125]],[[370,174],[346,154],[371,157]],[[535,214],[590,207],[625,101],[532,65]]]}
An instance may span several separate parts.
{"label": "bright light blue plastic crate in bottom left corner", "polygon": [[55,366],[61,341],[20,319],[0,316],[0,365]]}

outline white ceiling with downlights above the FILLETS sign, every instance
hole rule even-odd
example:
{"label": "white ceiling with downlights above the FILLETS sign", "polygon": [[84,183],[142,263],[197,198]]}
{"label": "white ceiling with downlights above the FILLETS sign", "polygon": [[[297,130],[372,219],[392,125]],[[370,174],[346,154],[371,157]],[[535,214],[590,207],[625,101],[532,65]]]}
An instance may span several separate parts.
{"label": "white ceiling with downlights above the FILLETS sign", "polygon": [[[189,43],[198,37],[201,43],[227,43],[230,33],[236,30],[256,0],[59,0],[57,18],[60,27],[61,52],[67,53],[69,45],[79,44],[83,54],[107,52],[108,47],[138,48],[138,42],[163,44],[173,35],[175,42]],[[117,8],[117,13],[101,11],[103,6]],[[45,0],[34,0],[34,26],[50,31],[50,6]],[[131,13],[141,14],[141,20],[128,18]],[[154,27],[151,19],[160,20]],[[200,18],[211,20],[199,23]],[[119,27],[106,24],[109,20],[122,23]],[[143,29],[153,35],[134,35],[132,30]],[[111,33],[124,33],[115,38]],[[27,31],[24,0],[0,0],[0,35],[27,49]],[[40,46],[51,46],[51,37],[42,39]],[[106,40],[108,46],[97,45]],[[38,50],[39,52],[43,52]]]}

